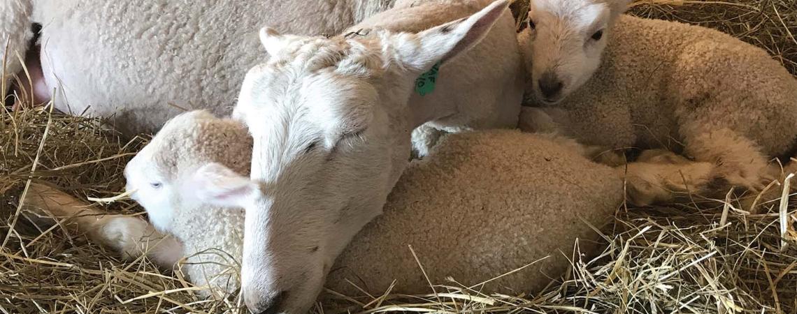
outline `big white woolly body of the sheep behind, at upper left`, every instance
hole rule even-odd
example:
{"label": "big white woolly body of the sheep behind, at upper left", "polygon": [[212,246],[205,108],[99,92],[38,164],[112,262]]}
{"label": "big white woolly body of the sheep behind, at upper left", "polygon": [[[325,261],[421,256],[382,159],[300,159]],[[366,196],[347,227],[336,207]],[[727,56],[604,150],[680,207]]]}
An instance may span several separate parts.
{"label": "big white woolly body of the sheep behind, at upper left", "polygon": [[[40,24],[41,56],[32,57],[28,64],[31,70],[41,67],[43,71],[31,73],[33,86],[39,87],[34,88],[37,101],[53,99],[62,112],[108,118],[110,126],[132,137],[155,132],[186,109],[229,114],[243,74],[268,59],[259,53],[257,41],[257,25],[262,21],[288,33],[335,35],[396,2],[200,0],[186,5],[147,0],[101,4],[9,0],[0,4],[0,56],[9,55],[9,79],[18,73],[26,81],[16,54],[26,56],[33,37],[30,25]],[[508,41],[507,36],[501,37],[503,41]],[[495,68],[474,68],[473,72],[488,72],[487,77],[518,76],[520,69],[514,68],[521,60],[516,48],[495,52],[487,56]],[[506,78],[495,82],[502,80]],[[485,107],[503,104],[503,89],[489,87],[483,90],[492,91],[492,98],[482,93],[485,98],[480,99]],[[506,94],[516,93],[522,93],[522,87]]]}

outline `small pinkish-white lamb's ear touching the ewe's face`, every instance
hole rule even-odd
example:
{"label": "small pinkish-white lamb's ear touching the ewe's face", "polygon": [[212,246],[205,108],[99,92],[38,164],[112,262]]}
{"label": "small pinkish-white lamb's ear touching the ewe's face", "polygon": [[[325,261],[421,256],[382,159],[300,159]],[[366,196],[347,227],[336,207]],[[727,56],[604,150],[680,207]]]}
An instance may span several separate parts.
{"label": "small pinkish-white lamb's ear touching the ewe's face", "polygon": [[185,192],[196,200],[222,207],[244,207],[257,191],[253,180],[218,163],[197,169],[185,186]]}

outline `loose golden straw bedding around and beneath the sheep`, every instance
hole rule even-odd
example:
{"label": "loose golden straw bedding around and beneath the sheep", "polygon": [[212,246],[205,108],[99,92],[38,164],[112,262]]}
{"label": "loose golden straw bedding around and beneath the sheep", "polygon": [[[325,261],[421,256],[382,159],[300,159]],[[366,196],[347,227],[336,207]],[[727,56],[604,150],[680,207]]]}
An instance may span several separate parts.
{"label": "loose golden straw bedding around and beneath the sheep", "polygon": [[[522,1],[512,6],[521,20],[524,7]],[[797,74],[792,0],[642,1],[631,13],[732,33],[768,49]],[[237,298],[195,297],[190,283],[171,269],[157,269],[143,258],[122,262],[67,226],[31,223],[18,202],[30,180],[57,184],[82,200],[114,196],[124,189],[125,163],[147,137],[122,141],[96,119],[52,113],[24,97],[16,102],[22,110],[0,112],[0,312],[245,312]],[[781,204],[791,214],[784,236]],[[575,257],[571,270],[536,294],[497,295],[450,281],[435,283],[437,296],[327,292],[314,311],[794,313],[797,201],[765,205],[768,211],[750,214],[732,197],[696,196],[687,204],[619,208],[602,231],[603,254],[582,260],[563,252]],[[102,206],[141,215],[140,207],[126,201]]]}

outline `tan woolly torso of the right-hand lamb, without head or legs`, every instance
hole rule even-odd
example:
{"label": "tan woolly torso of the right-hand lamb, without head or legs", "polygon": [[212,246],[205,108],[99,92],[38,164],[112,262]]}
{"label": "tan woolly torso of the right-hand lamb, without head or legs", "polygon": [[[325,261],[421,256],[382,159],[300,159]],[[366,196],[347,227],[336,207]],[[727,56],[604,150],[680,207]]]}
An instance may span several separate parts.
{"label": "tan woolly torso of the right-hand lamb, without head or legs", "polygon": [[677,147],[673,139],[728,128],[777,156],[797,139],[797,79],[763,49],[713,29],[629,15],[608,40],[595,76],[545,108],[579,141]]}

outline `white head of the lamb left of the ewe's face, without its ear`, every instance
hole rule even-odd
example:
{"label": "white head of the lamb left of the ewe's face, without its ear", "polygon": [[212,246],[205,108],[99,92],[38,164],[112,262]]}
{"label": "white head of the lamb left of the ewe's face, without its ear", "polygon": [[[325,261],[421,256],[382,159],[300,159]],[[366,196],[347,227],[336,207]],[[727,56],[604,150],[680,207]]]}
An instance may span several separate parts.
{"label": "white head of the lamb left of the ewe's face, without its ear", "polygon": [[251,145],[239,123],[203,110],[180,114],[125,166],[126,189],[133,192],[131,198],[144,207],[156,228],[169,231],[175,215],[206,208],[192,202],[193,197],[186,198],[186,176],[208,162],[223,162],[248,173]]}

